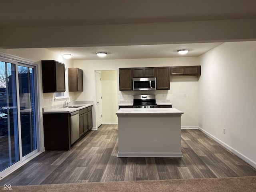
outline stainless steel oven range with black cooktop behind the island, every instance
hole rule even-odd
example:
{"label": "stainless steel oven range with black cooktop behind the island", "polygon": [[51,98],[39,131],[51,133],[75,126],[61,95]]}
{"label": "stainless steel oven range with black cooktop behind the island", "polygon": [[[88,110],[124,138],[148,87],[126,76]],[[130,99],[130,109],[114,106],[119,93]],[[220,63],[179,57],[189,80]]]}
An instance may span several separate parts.
{"label": "stainless steel oven range with black cooktop behind the island", "polygon": [[132,108],[157,108],[155,95],[134,95]]}

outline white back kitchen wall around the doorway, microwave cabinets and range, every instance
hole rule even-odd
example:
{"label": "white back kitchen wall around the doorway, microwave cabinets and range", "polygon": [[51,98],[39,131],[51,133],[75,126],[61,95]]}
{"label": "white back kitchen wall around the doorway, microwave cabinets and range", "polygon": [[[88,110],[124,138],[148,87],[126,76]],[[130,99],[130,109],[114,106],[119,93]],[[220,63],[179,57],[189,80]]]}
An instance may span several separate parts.
{"label": "white back kitchen wall around the doorway, microwave cabinets and range", "polygon": [[[123,60],[75,60],[74,67],[78,67],[84,72],[84,92],[79,96],[75,95],[77,100],[93,100],[96,103],[95,77],[96,70],[116,70],[125,67],[152,67],[152,66],[189,66],[198,65],[196,57],[182,58],[153,58],[153,59],[123,59]],[[119,78],[119,73],[118,73]],[[117,83],[119,80],[117,81]],[[198,77],[174,77],[170,80],[170,90],[156,91],[119,91],[118,103],[133,100],[134,94],[155,94],[157,100],[170,100],[173,107],[184,111],[182,115],[182,127],[198,128]],[[183,93],[187,97],[183,97]],[[120,99],[120,95],[124,98]],[[93,110],[96,116],[95,108]],[[94,127],[96,127],[95,119],[93,119]]]}

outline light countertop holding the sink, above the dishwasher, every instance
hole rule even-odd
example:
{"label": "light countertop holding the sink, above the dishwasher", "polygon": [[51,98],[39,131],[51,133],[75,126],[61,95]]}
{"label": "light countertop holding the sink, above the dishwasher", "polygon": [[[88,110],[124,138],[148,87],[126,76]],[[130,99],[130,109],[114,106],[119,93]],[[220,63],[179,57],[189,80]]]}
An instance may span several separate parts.
{"label": "light countertop holding the sink, above the dishwasher", "polygon": [[77,108],[63,108],[63,104],[48,106],[43,108],[43,113],[72,113],[83,108],[93,105],[93,101],[75,101],[70,103],[69,106],[79,106]]}

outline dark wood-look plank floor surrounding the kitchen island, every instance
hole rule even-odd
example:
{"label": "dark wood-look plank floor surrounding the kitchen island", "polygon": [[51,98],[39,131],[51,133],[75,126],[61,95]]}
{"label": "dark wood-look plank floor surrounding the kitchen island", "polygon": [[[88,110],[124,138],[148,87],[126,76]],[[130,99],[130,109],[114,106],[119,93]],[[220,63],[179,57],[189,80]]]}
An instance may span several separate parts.
{"label": "dark wood-look plank floor surrounding the kitchen island", "polygon": [[117,125],[102,125],[68,152],[40,154],[0,185],[256,176],[256,169],[199,130],[182,130],[183,158],[118,158],[117,151]]}

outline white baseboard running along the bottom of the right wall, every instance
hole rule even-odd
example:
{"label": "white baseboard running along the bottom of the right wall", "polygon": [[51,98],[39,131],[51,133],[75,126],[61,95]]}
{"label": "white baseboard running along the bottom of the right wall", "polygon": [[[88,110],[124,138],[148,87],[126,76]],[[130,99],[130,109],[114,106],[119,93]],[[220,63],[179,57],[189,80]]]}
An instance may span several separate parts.
{"label": "white baseboard running along the bottom of the right wall", "polygon": [[209,136],[210,138],[212,138],[214,141],[216,141],[218,144],[220,144],[221,146],[223,146],[224,148],[226,148],[227,150],[229,150],[230,152],[234,153],[236,156],[238,156],[239,158],[241,158],[242,160],[244,160],[246,163],[250,164],[251,166],[253,166],[254,168],[256,168],[256,162],[254,162],[253,160],[251,160],[250,158],[246,157],[244,154],[238,152],[237,150],[235,150],[234,148],[230,147],[229,145],[227,145],[226,143],[222,142],[221,140],[219,140],[218,138],[214,137],[212,134],[208,133],[207,131],[203,130],[202,128],[198,128],[200,131],[202,131],[204,134],[206,134],[207,136]]}

